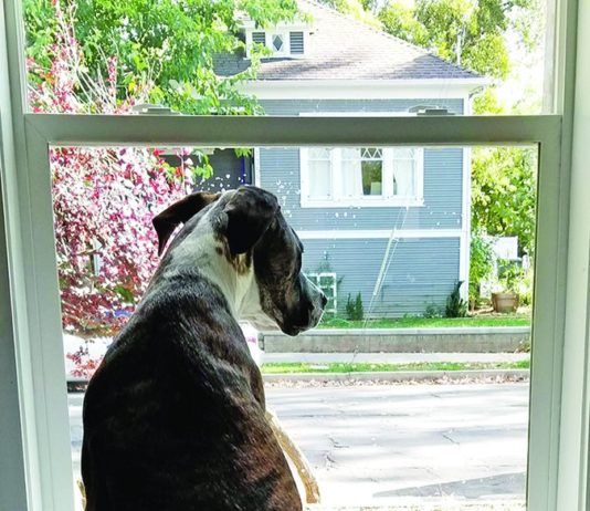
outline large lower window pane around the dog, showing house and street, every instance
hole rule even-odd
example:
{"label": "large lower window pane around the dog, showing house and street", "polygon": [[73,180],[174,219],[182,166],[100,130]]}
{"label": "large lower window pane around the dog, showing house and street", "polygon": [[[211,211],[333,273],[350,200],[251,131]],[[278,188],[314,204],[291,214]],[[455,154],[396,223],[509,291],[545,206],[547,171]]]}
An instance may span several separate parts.
{"label": "large lower window pane around the dog, showing house and street", "polygon": [[[389,164],[410,189],[420,152],[423,201],[386,196]],[[324,504],[524,510],[536,148],[308,147],[307,167],[301,154],[51,147],[70,388],[84,390],[162,261],[154,216],[194,190],[257,184],[276,196],[305,248],[303,272],[328,299],[317,330],[261,331],[268,407],[307,457]],[[330,199],[330,154],[343,186],[358,187],[355,200]],[[365,196],[380,182],[380,196]],[[244,331],[260,356],[256,333]],[[69,396],[75,479],[82,398]]]}

